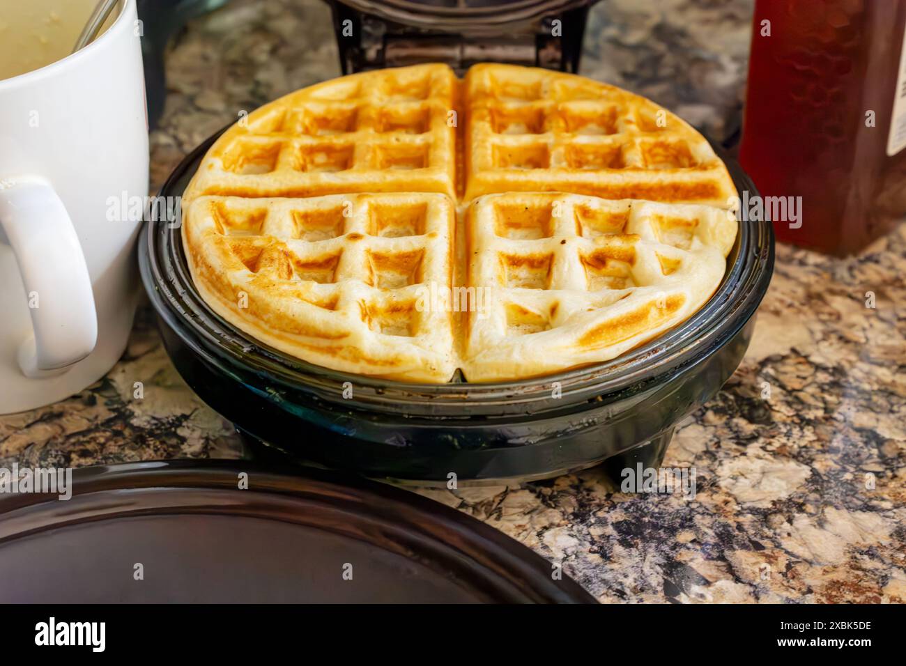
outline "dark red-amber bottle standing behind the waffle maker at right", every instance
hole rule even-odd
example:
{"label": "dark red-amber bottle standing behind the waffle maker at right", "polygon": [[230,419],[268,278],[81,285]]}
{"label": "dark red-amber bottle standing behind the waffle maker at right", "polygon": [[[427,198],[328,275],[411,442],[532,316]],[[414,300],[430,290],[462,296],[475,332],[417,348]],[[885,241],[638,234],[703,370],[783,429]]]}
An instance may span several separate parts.
{"label": "dark red-amber bottle standing behind the waffle maker at right", "polygon": [[906,0],[757,0],[739,159],[802,197],[779,240],[852,254],[906,214],[904,34]]}

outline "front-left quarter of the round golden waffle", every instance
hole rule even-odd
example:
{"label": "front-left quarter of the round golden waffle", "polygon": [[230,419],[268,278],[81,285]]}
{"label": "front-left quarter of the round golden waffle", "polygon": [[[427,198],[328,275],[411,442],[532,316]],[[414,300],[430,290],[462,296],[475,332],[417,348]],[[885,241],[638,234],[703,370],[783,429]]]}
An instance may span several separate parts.
{"label": "front-left quarter of the round golden waffle", "polygon": [[183,237],[207,304],[258,340],[346,372],[448,381],[452,315],[419,298],[452,284],[453,224],[441,194],[201,197]]}

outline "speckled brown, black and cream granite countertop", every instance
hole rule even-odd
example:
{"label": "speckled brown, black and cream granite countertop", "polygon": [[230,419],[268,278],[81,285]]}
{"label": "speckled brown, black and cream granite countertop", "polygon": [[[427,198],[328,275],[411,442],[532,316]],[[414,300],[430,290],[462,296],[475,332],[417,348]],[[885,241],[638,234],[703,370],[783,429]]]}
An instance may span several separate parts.
{"label": "speckled brown, black and cream granite countertop", "polygon": [[[608,0],[583,73],[732,137],[751,0]],[[171,44],[151,188],[239,111],[337,75],[318,0],[234,0]],[[602,472],[420,493],[535,549],[602,602],[906,602],[906,225],[860,256],[778,246],[745,360],[679,427],[669,467],[698,492],[632,496]],[[876,297],[866,307],[866,292]],[[0,417],[0,465],[237,458],[140,307],[127,352],[67,401]],[[133,381],[145,384],[132,397]]]}

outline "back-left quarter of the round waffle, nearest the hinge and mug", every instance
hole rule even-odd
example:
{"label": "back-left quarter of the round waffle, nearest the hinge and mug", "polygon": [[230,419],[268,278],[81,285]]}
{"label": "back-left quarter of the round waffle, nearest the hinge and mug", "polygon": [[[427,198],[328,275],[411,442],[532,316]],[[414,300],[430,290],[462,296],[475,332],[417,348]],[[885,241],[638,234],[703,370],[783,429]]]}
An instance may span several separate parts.
{"label": "back-left quarter of the round waffle, nearest the hinge and mug", "polygon": [[185,198],[344,192],[455,196],[457,79],[426,64],[333,79],[237,122],[207,152]]}

